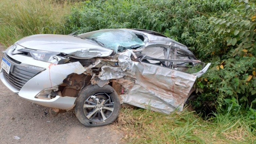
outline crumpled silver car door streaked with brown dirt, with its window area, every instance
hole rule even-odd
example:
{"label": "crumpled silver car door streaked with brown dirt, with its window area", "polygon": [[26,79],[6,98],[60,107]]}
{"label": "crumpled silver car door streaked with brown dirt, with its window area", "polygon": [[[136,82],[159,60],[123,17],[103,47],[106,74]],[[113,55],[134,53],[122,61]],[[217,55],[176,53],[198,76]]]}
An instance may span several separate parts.
{"label": "crumpled silver car door streaked with brown dirt, with its window area", "polygon": [[[169,48],[170,45],[164,44],[149,45],[142,54],[170,60]],[[181,111],[197,76],[167,67],[170,62],[133,61],[131,73],[136,82],[123,102],[166,114],[176,109]]]}

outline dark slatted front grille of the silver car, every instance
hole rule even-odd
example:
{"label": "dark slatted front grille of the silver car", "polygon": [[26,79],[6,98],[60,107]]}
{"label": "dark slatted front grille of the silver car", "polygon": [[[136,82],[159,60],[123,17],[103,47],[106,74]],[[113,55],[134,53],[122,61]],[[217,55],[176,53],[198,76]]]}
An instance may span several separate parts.
{"label": "dark slatted front grille of the silver car", "polygon": [[25,68],[23,66],[18,66],[12,63],[12,67],[9,74],[7,74],[7,72],[4,70],[2,72],[6,80],[8,80],[12,86],[20,90],[22,86],[24,86],[24,84],[28,82],[28,80],[36,76],[36,74],[38,74],[40,71]]}

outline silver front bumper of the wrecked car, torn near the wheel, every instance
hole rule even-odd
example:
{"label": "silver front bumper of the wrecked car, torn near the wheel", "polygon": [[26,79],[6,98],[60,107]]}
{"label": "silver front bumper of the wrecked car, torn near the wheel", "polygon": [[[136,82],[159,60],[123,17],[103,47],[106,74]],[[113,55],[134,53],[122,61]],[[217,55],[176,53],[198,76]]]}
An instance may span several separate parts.
{"label": "silver front bumper of the wrecked car, torn near the wheel", "polygon": [[[8,55],[8,56],[6,56]],[[20,54],[11,54],[10,48],[6,50],[4,58],[12,64],[12,66],[17,66],[24,68],[25,66],[37,66],[40,68],[45,68],[46,70],[37,73],[35,76],[32,76],[28,79],[27,82],[22,84],[21,87],[17,87],[15,83],[17,80],[13,79],[14,82],[10,82],[8,76],[4,76],[4,70],[0,70],[0,79],[4,85],[9,88],[12,92],[15,92],[20,97],[40,104],[42,106],[47,106],[51,108],[59,108],[64,110],[69,110],[74,107],[76,98],[69,96],[56,96],[50,100],[36,98],[36,96],[46,89],[58,88],[60,84],[63,83],[63,80],[72,73],[82,74],[85,71],[85,68],[79,63],[68,63],[61,65],[54,65],[47,62],[42,62],[39,60],[34,60],[34,58],[29,56],[24,56]],[[22,63],[17,64],[14,61],[20,61]],[[14,69],[14,68],[11,68]],[[18,72],[19,73],[19,72]],[[7,73],[6,73],[7,74]]]}

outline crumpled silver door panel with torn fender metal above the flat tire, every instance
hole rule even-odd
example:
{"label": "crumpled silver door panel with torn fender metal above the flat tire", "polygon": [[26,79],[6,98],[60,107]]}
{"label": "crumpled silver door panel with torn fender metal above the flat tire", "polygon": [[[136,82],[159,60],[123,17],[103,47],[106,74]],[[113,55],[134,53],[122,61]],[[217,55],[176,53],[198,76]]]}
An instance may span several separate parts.
{"label": "crumpled silver door panel with torn fender metal above the flat tire", "polygon": [[102,66],[98,77],[101,80],[124,76],[135,79],[130,92],[120,95],[123,103],[166,114],[176,109],[182,110],[196,76],[155,64],[134,62],[131,55],[132,50],[120,53],[120,67]]}

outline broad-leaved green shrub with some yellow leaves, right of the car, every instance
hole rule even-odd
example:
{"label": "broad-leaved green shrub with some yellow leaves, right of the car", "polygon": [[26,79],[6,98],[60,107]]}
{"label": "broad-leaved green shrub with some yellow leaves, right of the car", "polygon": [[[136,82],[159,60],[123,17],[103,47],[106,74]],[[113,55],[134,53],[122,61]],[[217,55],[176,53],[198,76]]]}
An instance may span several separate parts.
{"label": "broad-leaved green shrub with some yellow leaves, right of the car", "polygon": [[204,101],[204,105],[233,113],[238,108],[248,110],[248,106],[256,109],[255,19],[255,5],[246,0],[239,0],[236,8],[209,18],[215,25],[214,43],[221,42],[223,46],[214,47],[212,55],[217,56],[214,68],[204,75],[207,82],[204,78],[199,80],[204,83],[204,93],[212,94],[212,101]]}

